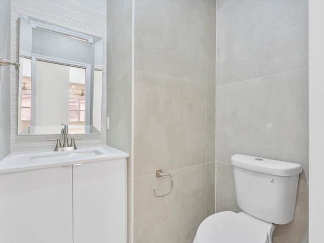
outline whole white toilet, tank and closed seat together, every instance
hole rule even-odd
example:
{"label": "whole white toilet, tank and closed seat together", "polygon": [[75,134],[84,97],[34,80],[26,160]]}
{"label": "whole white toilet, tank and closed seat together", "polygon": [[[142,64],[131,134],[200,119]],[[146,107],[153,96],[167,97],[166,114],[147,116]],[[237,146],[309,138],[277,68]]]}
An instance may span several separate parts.
{"label": "whole white toilet, tank and closed seat together", "polygon": [[277,224],[294,218],[302,166],[244,154],[231,157],[240,213],[224,211],[206,218],[193,243],[271,243]]}

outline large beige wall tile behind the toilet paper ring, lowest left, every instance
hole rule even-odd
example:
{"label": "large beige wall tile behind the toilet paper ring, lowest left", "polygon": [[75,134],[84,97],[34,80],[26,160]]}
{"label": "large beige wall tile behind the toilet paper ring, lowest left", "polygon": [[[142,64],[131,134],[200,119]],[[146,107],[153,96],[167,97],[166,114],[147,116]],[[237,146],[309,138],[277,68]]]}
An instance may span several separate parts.
{"label": "large beige wall tile behind the toilet paper ring, lowest left", "polygon": [[205,219],[205,168],[193,166],[169,171],[173,177],[155,175],[134,179],[134,243],[191,243],[199,224]]}

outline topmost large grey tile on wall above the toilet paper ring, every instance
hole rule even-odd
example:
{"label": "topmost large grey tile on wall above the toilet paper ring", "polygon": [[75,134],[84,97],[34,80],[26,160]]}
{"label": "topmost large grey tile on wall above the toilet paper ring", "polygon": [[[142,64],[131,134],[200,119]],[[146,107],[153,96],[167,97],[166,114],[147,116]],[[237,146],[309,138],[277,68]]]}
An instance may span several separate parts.
{"label": "topmost large grey tile on wall above the toilet paper ring", "polygon": [[196,0],[136,0],[135,70],[206,83],[206,8]]}

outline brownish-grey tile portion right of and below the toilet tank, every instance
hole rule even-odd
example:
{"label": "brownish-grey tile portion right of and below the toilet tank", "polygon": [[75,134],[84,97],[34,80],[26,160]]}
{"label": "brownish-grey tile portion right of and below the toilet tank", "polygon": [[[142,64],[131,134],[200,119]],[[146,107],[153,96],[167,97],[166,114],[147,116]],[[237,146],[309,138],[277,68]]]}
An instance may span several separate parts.
{"label": "brownish-grey tile portion right of and below the toilet tank", "polygon": [[308,243],[308,183],[299,181],[295,215],[292,222],[277,225],[273,243]]}

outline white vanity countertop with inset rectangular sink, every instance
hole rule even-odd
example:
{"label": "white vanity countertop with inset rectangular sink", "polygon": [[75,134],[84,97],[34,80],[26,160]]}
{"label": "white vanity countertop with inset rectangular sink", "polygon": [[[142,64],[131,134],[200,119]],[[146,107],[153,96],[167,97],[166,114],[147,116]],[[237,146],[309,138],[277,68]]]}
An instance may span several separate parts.
{"label": "white vanity countertop with inset rectangular sink", "polygon": [[107,145],[80,147],[69,151],[13,152],[0,161],[0,174],[127,157],[128,153]]}

